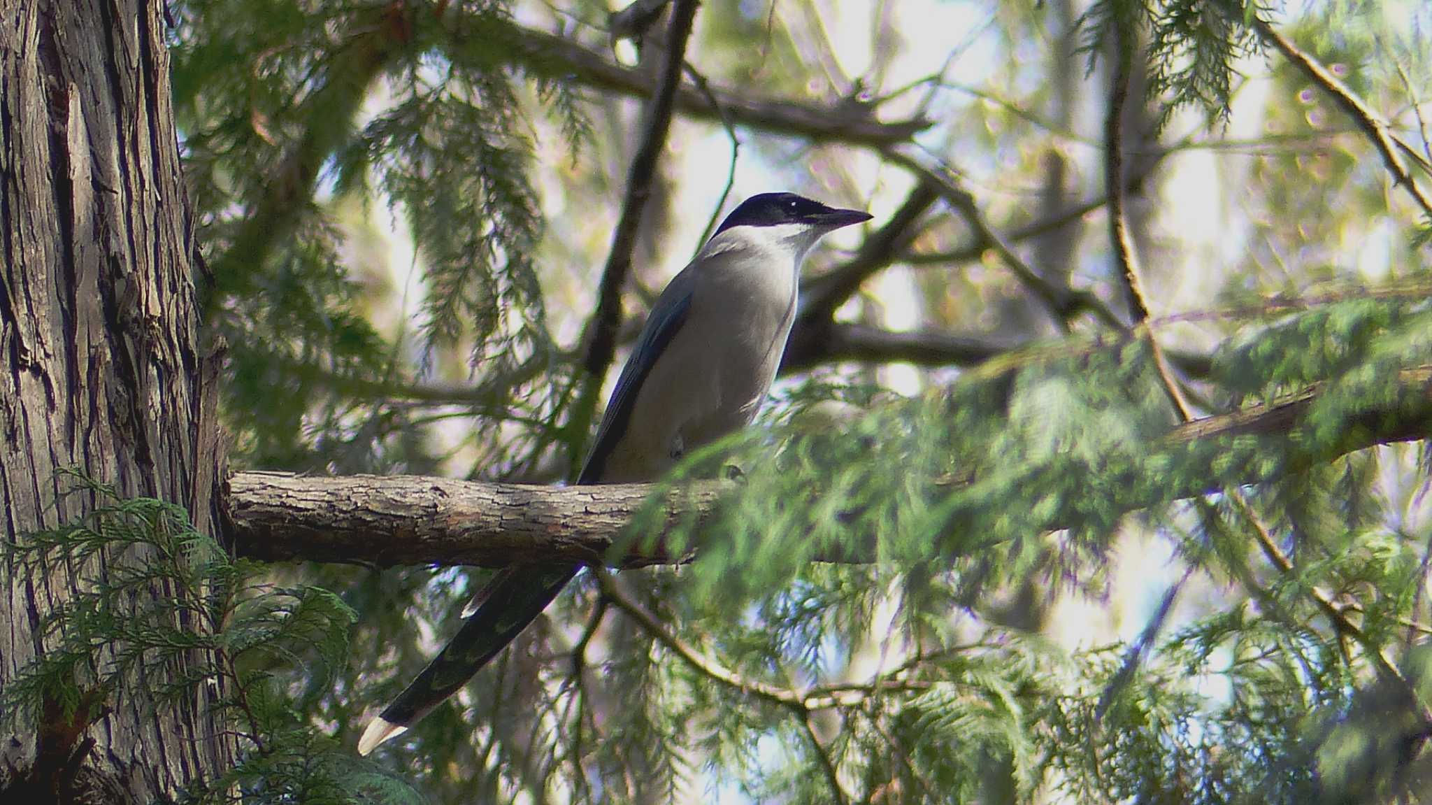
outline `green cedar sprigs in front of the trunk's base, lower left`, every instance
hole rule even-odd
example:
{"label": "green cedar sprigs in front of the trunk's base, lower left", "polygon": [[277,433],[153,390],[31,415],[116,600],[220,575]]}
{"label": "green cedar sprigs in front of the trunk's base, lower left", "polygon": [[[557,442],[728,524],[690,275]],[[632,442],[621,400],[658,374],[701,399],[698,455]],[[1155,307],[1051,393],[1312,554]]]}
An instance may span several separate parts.
{"label": "green cedar sprigs in front of the trunk's base, lower left", "polygon": [[[50,650],[0,698],[7,729],[83,729],[126,685],[168,679],[150,690],[156,708],[218,709],[232,726],[216,739],[242,749],[218,779],[193,781],[185,802],[421,802],[308,723],[347,662],[357,613],[339,596],[265,580],[262,566],[195,531],[179,506],[120,500],[77,473],[66,480],[69,494],[95,498],[93,511],[3,546],[21,577],[77,570],[73,597],[40,626]],[[168,673],[180,657],[188,673]]]}

